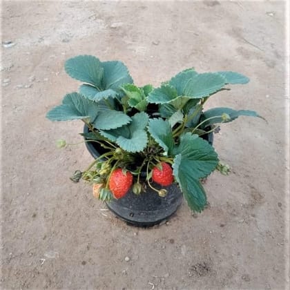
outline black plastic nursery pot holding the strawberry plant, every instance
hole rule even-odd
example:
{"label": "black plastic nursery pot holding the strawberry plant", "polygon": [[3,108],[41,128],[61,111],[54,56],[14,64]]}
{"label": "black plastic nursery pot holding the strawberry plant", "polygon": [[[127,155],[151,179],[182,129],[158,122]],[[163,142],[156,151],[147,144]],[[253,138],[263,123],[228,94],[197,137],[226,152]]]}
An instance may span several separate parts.
{"label": "black plastic nursery pot holding the strawberry plant", "polygon": [[[88,126],[84,126],[84,133],[88,133]],[[213,133],[204,137],[213,144]],[[86,148],[95,159],[100,156],[97,142],[86,142]],[[161,189],[158,184],[152,183],[156,189]],[[177,211],[182,203],[182,192],[177,184],[162,187],[167,190],[165,197],[160,197],[155,191],[147,186],[146,192],[135,195],[132,190],[119,200],[106,202],[110,211],[118,218],[134,226],[154,226],[160,224]]]}

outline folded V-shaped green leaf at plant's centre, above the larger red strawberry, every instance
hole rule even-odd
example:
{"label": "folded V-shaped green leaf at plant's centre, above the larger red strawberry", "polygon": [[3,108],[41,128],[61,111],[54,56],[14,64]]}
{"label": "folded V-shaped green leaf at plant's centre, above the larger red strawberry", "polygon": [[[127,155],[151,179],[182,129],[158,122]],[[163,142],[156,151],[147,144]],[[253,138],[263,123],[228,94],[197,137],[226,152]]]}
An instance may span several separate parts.
{"label": "folded V-shaped green leaf at plant's centre, above the larger red strawberry", "polygon": [[137,113],[132,117],[131,124],[115,130],[100,131],[100,133],[110,141],[116,142],[125,151],[139,152],[146,147],[148,142],[144,130],[148,124],[148,119],[146,113]]}

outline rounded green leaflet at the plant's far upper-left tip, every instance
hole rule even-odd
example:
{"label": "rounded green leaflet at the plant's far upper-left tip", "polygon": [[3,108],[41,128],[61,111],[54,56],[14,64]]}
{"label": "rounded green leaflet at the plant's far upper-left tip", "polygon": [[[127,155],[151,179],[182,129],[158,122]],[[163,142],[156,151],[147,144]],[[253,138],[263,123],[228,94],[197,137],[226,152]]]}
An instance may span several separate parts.
{"label": "rounded green leaflet at the plant's far upper-left tip", "polygon": [[104,68],[101,61],[92,55],[79,55],[66,61],[64,68],[68,75],[79,81],[85,81],[96,87],[101,86]]}

